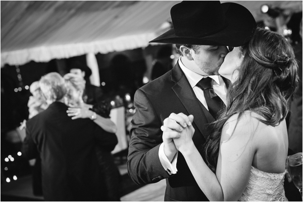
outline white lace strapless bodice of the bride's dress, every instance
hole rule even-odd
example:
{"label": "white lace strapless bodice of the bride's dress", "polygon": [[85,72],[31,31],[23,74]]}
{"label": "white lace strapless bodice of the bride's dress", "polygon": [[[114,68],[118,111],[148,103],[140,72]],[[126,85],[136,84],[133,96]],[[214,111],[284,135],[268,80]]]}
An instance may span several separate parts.
{"label": "white lace strapless bodice of the bride's dress", "polygon": [[239,201],[284,201],[284,173],[266,173],[251,166],[247,186]]}

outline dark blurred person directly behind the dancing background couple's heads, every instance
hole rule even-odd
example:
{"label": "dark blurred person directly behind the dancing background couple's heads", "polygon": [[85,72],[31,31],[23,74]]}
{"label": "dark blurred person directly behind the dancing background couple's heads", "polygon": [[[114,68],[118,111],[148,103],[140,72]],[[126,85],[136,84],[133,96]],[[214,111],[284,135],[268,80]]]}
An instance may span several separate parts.
{"label": "dark blurred person directly behind the dancing background couple's heads", "polygon": [[89,76],[91,75],[91,70],[87,65],[79,62],[72,61],[69,64],[69,72],[81,76],[84,79],[85,88],[82,93],[82,99],[84,103],[93,105],[103,100],[104,92],[101,88],[89,83]]}

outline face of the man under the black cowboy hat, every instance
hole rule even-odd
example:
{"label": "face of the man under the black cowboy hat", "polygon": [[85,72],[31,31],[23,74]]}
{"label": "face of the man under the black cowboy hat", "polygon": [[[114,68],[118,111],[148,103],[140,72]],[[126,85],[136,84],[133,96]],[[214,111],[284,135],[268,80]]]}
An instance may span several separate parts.
{"label": "face of the man under the black cowboy hat", "polygon": [[190,49],[194,63],[207,75],[219,75],[218,70],[228,53],[226,46],[198,45]]}

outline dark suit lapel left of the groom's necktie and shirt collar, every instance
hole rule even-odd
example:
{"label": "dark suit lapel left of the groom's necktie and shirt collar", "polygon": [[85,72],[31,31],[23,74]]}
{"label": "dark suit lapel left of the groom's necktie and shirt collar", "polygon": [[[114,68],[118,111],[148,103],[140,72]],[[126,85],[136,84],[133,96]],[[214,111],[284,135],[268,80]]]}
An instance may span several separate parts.
{"label": "dark suit lapel left of the groom's necktie and shirt collar", "polygon": [[[176,83],[172,87],[173,91],[180,99],[180,102],[183,104],[188,114],[191,114],[194,117],[193,124],[195,124],[200,133],[203,134],[205,138],[207,138],[209,136],[207,126],[210,123],[209,121],[212,120],[208,119],[205,115],[204,112],[207,110],[203,110],[203,108],[201,108],[199,100],[196,98],[186,76],[184,75],[178,63],[172,69],[172,81]],[[209,112],[207,111],[207,113]]]}

